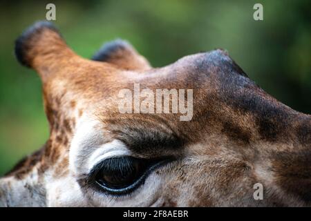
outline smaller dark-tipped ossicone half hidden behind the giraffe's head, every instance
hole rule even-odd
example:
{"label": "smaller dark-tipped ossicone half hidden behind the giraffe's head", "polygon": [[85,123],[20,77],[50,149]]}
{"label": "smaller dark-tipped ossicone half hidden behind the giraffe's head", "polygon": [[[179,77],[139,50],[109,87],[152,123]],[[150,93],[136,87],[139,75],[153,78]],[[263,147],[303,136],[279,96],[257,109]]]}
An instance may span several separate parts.
{"label": "smaller dark-tipped ossicone half hidden behind the giraffe's head", "polygon": [[102,46],[92,60],[104,61],[126,70],[147,70],[151,66],[128,41],[117,39]]}

